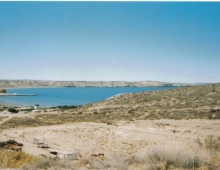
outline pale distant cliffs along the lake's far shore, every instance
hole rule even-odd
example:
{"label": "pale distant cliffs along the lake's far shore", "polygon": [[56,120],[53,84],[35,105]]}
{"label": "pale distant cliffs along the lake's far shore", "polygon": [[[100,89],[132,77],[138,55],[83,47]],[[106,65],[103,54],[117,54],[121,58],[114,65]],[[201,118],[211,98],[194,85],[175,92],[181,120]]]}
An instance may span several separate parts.
{"label": "pale distant cliffs along the lake's far shore", "polygon": [[148,86],[191,86],[187,83],[159,81],[43,81],[43,80],[0,80],[0,88],[22,87],[148,87]]}

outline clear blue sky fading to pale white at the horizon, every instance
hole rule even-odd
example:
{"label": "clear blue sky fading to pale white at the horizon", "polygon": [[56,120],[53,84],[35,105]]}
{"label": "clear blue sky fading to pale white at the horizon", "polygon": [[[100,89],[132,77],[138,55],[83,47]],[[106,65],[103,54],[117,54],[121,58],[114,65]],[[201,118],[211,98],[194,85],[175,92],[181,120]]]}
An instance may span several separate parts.
{"label": "clear blue sky fading to pale white at the horizon", "polygon": [[0,79],[220,82],[220,2],[0,2]]}

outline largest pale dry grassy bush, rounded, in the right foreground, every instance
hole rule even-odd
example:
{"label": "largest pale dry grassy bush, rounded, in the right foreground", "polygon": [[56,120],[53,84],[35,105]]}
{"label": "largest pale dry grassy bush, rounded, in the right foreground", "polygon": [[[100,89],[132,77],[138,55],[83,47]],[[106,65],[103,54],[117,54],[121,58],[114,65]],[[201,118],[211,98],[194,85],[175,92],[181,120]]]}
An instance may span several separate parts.
{"label": "largest pale dry grassy bush, rounded, in the right foreground", "polygon": [[[171,147],[172,146],[172,147]],[[195,150],[188,147],[154,146],[143,150],[133,158],[136,164],[147,164],[148,169],[166,170],[169,168],[193,169],[202,165],[202,158]]]}

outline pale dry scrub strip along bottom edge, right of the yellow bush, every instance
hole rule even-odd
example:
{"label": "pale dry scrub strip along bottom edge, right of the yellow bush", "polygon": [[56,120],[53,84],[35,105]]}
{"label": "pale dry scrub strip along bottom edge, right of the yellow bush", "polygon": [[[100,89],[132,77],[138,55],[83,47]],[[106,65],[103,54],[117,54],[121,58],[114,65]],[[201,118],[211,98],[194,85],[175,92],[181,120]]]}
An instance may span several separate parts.
{"label": "pale dry scrub strip along bottom edge, right of the yellow bush", "polygon": [[106,170],[130,170],[130,169],[158,169],[158,170],[218,170],[220,157],[209,155],[199,151],[199,148],[170,148],[152,147],[148,150],[126,156],[120,152],[105,157],[90,157],[85,155],[76,162],[62,161],[56,158],[37,158],[22,167],[23,170],[31,169],[106,169]]}

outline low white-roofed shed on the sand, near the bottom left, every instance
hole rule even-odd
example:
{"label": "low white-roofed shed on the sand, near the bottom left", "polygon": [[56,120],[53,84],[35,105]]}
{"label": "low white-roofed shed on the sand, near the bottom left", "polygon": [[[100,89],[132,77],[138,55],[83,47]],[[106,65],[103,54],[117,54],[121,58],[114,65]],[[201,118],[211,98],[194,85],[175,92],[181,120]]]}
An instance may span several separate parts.
{"label": "low white-roofed shed on the sand, near the bottom left", "polygon": [[73,153],[71,151],[59,151],[59,150],[55,150],[55,149],[49,149],[50,154],[57,156],[60,159],[63,160],[76,160],[78,159],[78,155],[76,153]]}

